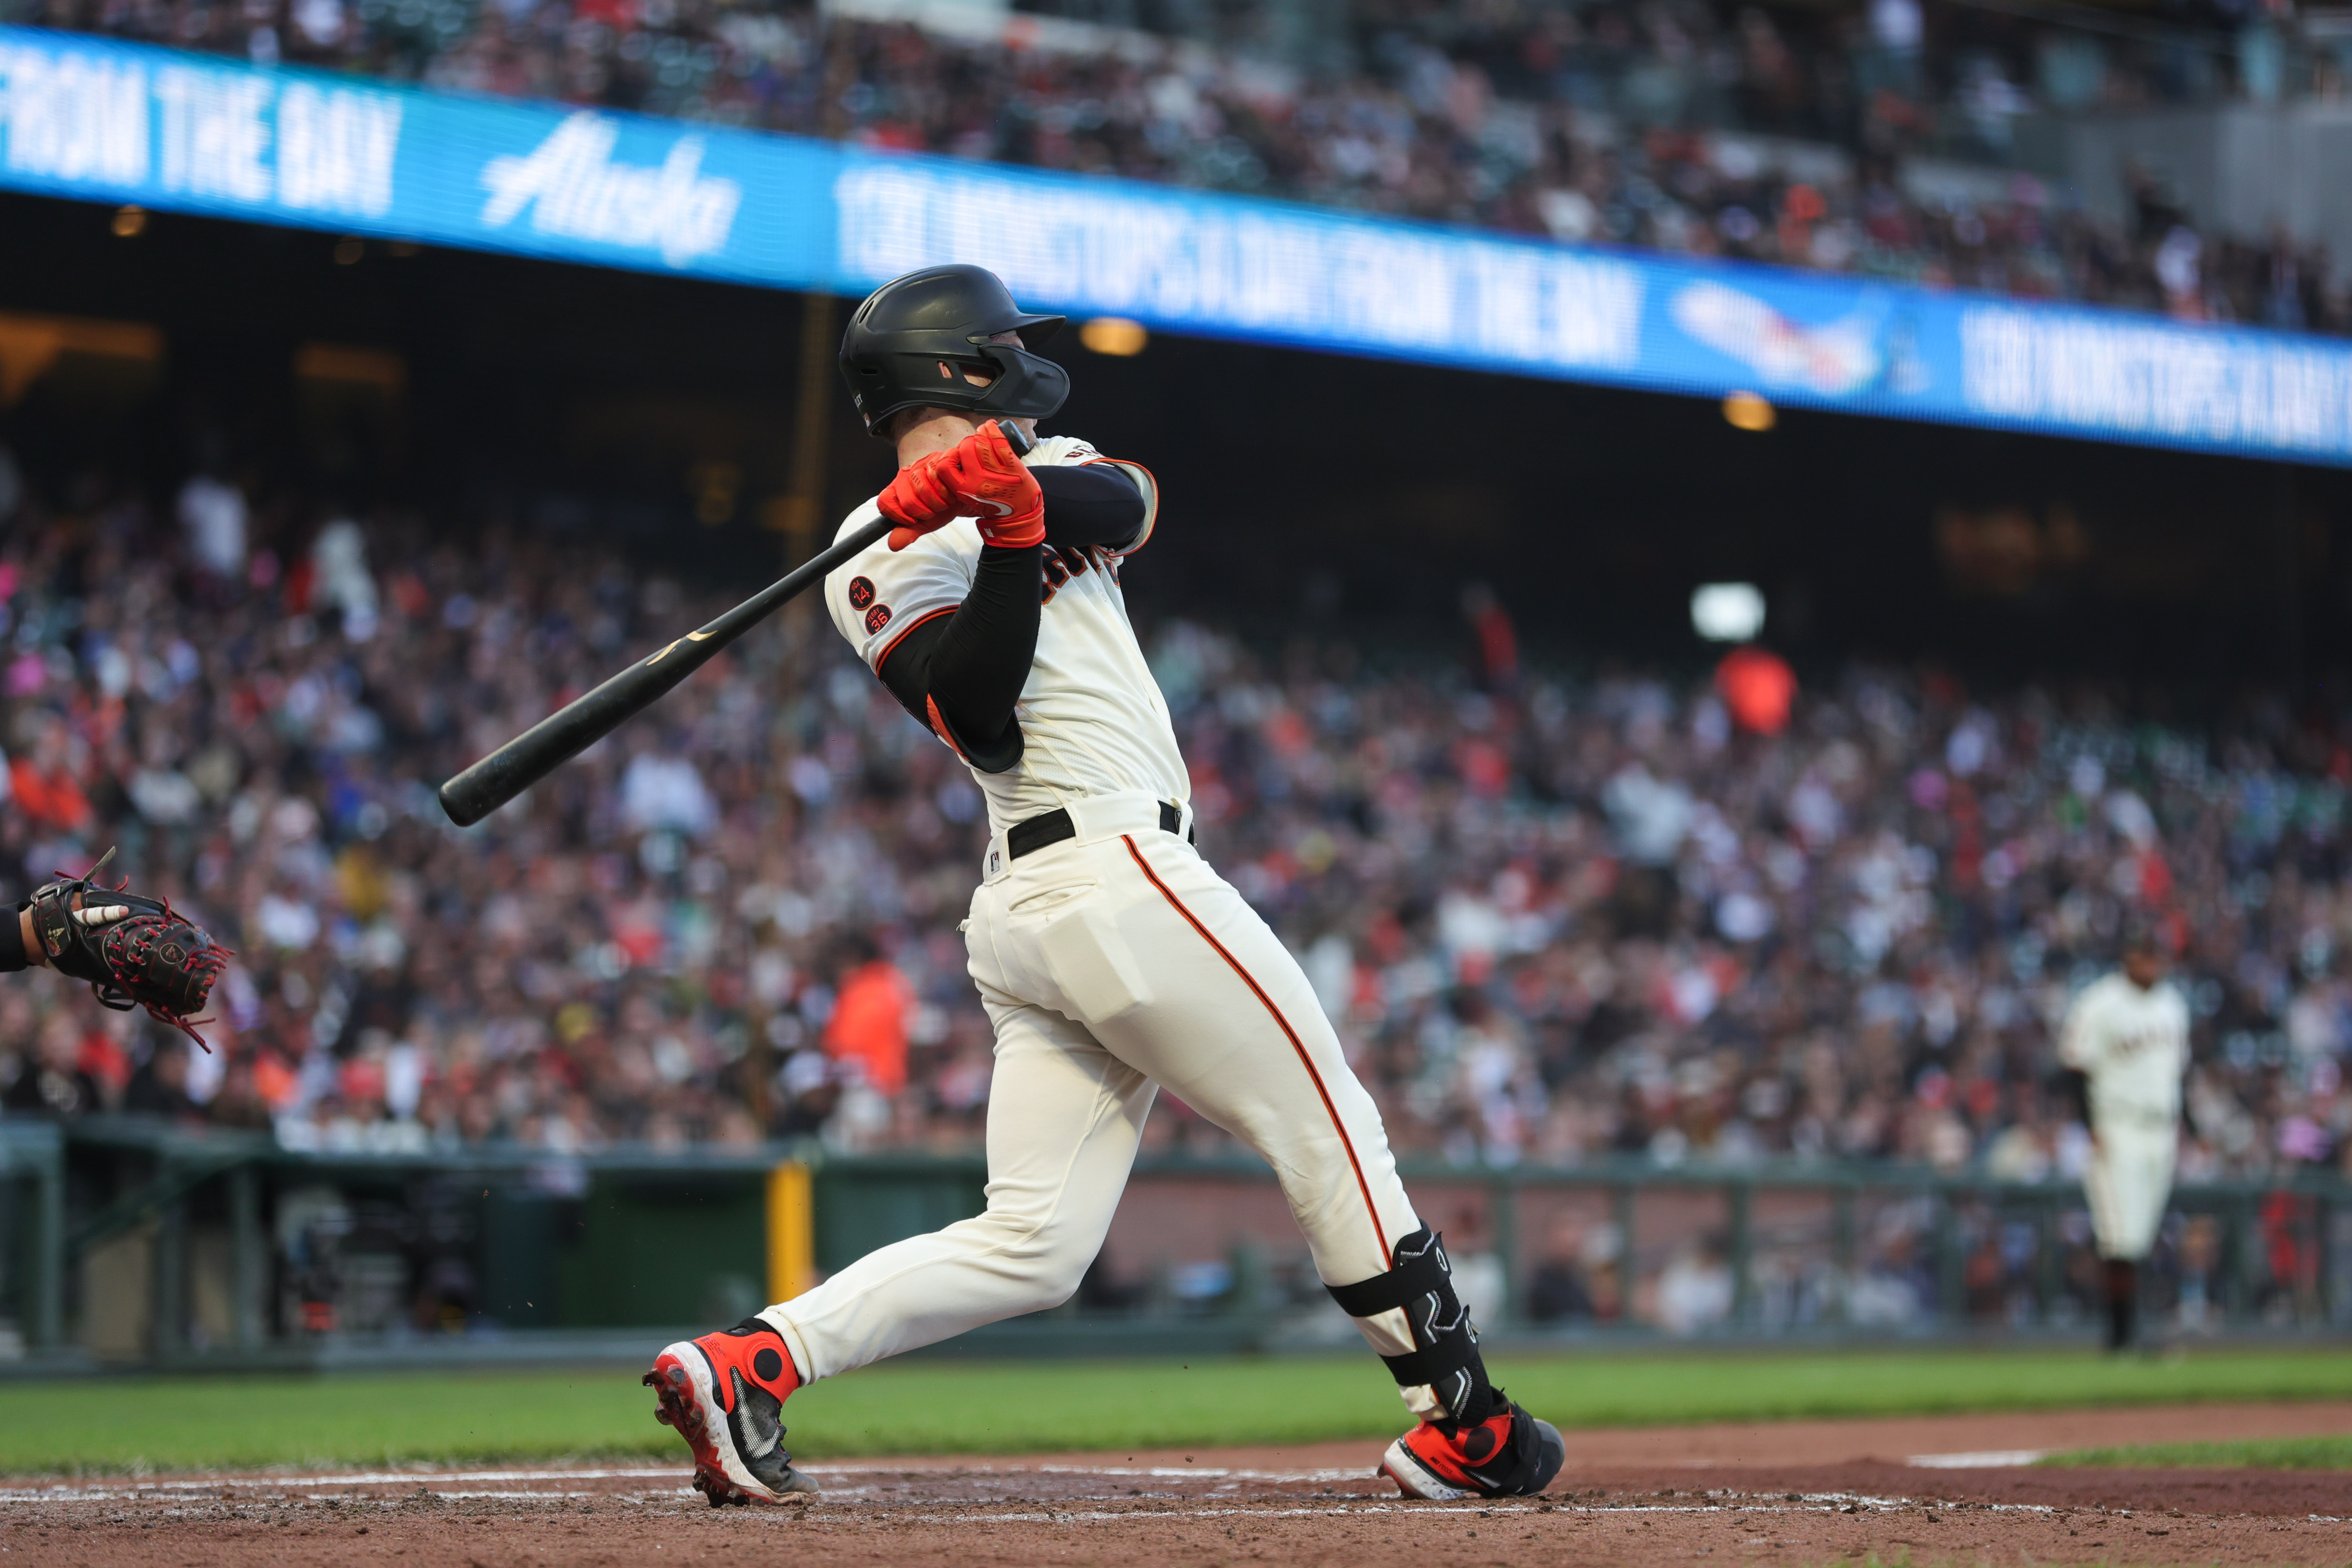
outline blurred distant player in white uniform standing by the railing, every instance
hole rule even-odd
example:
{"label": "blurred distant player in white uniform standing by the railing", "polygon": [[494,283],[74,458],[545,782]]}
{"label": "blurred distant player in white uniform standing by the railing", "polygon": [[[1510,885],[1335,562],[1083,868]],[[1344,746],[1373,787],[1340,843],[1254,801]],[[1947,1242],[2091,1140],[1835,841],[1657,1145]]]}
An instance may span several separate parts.
{"label": "blurred distant player in white uniform standing by the railing", "polygon": [[2067,1009],[2058,1060],[2074,1074],[2091,1164],[2082,1173],[2091,1232],[2107,1260],[2107,1347],[2136,1333],[2140,1260],[2157,1244],[2180,1145],[2180,1077],[2190,1009],[2164,983],[2164,947],[2136,929],[2124,969],[2093,980]]}

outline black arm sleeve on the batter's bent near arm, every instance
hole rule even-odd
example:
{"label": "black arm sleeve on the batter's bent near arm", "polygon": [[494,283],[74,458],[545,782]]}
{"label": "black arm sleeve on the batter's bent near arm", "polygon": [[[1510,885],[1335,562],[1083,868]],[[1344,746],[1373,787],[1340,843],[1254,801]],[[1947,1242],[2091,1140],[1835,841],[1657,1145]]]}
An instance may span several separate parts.
{"label": "black arm sleeve on the batter's bent near arm", "polygon": [[924,729],[983,773],[1021,762],[1014,703],[1037,656],[1044,545],[981,545],[955,614],[915,625],[882,656],[882,684]]}

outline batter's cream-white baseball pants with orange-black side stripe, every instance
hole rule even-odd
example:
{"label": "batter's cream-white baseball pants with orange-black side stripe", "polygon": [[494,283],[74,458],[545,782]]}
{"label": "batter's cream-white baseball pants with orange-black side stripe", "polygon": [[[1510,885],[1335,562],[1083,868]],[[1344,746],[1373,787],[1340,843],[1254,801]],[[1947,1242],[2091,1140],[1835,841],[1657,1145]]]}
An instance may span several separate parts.
{"label": "batter's cream-white baseball pants with orange-black side stripe", "polygon": [[[1324,1284],[1385,1272],[1421,1227],[1378,1107],[1272,929],[1160,830],[1150,795],[1070,816],[1075,839],[1021,860],[997,835],[971,898],[971,978],[997,1027],[988,1211],[762,1312],[811,1382],[1070,1300],[1157,1084],[1275,1168]],[[1414,1349],[1402,1312],[1357,1324],[1381,1354]],[[1437,1410],[1425,1387],[1404,1401]]]}

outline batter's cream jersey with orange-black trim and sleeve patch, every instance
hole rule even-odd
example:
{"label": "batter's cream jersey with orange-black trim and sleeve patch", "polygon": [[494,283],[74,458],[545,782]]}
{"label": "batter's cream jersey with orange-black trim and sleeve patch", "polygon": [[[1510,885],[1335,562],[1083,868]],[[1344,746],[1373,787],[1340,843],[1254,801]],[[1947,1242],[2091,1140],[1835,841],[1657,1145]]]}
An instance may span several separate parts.
{"label": "batter's cream jersey with orange-black trim and sleeve patch", "polygon": [[[1030,468],[1108,463],[1070,435],[1040,440]],[[1044,550],[1044,609],[1037,654],[1014,705],[1021,762],[1004,773],[971,776],[988,795],[997,832],[1073,799],[1148,790],[1164,802],[1190,799],[1167,698],[1152,679],[1120,592],[1120,559],[1143,548],[1160,522],[1160,487],[1136,463],[1117,463],[1143,491],[1143,531],[1124,550]],[[875,501],[849,512],[835,538],[880,517]],[[924,534],[906,550],[875,543],[826,578],[826,609],[866,665],[882,668],[898,639],[934,616],[950,616],[971,592],[981,531],[969,517]]]}

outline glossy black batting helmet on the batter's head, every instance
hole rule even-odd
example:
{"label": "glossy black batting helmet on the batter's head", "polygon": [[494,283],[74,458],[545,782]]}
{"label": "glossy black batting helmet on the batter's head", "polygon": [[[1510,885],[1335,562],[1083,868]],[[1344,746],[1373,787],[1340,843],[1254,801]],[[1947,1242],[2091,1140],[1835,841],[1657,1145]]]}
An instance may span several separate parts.
{"label": "glossy black batting helmet on the batter's head", "polygon": [[[880,435],[901,409],[955,409],[978,418],[1044,418],[1070,395],[1070,374],[1030,353],[1063,317],[1030,315],[988,268],[927,266],[866,296],[842,334],[849,400]],[[990,343],[1018,331],[1021,346]],[[964,367],[993,376],[964,381]]]}

